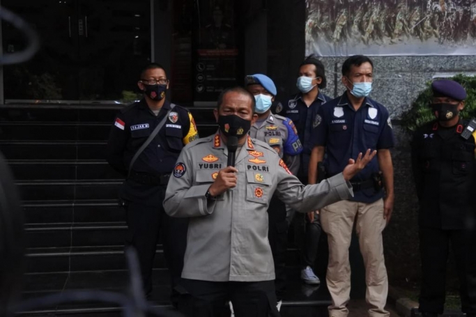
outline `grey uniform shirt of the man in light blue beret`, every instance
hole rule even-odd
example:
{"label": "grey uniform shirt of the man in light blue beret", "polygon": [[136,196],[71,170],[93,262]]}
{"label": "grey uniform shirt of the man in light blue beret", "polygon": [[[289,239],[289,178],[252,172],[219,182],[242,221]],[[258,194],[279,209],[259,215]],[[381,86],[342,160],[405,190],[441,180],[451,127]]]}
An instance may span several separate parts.
{"label": "grey uniform shirt of the man in light blue beret", "polygon": [[253,139],[265,142],[276,150],[293,175],[299,171],[301,141],[293,121],[284,116],[270,114],[261,125],[254,124],[249,130]]}

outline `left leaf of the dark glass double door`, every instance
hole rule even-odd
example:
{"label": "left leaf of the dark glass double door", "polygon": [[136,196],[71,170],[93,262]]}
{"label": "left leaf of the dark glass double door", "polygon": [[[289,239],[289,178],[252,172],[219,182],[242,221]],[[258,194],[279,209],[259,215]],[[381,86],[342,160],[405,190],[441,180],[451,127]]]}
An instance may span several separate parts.
{"label": "left leaf of the dark glass double door", "polygon": [[[76,1],[2,0],[1,3],[26,20],[40,37],[40,50],[33,59],[3,68],[6,103],[77,100]],[[20,32],[11,24],[3,22],[2,33],[3,52],[19,52],[26,46]]]}

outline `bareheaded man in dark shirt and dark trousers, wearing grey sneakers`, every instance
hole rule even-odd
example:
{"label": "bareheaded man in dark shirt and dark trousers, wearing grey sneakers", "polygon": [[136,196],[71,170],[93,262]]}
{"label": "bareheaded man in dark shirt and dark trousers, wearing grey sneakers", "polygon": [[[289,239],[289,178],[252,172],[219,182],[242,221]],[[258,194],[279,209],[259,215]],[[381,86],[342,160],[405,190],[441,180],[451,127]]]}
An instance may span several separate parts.
{"label": "bareheaded man in dark shirt and dark trousers, wearing grey sneakers", "polygon": [[[323,63],[314,56],[307,57],[299,67],[299,77],[296,82],[300,93],[292,95],[284,104],[277,105],[275,111],[277,114],[290,118],[298,130],[298,136],[304,148],[300,156],[300,168],[296,176],[303,184],[307,184],[307,167],[309,166],[309,155],[312,150],[310,146],[312,117],[310,114],[323,103],[331,100],[327,95],[321,93],[321,89],[325,88],[326,84],[327,79],[325,78]],[[301,279],[307,284],[319,284],[321,281],[312,270],[316,261],[322,231],[318,212],[309,212],[305,217],[305,222]]]}

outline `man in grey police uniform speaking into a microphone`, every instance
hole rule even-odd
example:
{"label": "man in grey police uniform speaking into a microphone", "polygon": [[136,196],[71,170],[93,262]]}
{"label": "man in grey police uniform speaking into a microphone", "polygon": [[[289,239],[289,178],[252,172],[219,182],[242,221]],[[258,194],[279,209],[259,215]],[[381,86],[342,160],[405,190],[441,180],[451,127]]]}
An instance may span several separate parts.
{"label": "man in grey police uniform speaking into a microphone", "polygon": [[[275,150],[247,134],[254,104],[243,88],[225,90],[214,111],[220,130],[183,149],[167,186],[167,214],[190,218],[178,304],[185,316],[229,316],[229,300],[237,317],[279,316],[266,212],[272,194],[301,212],[348,199],[348,180],[376,154],[367,150],[342,173],[302,185]],[[236,167],[227,167],[229,137],[238,138]]]}

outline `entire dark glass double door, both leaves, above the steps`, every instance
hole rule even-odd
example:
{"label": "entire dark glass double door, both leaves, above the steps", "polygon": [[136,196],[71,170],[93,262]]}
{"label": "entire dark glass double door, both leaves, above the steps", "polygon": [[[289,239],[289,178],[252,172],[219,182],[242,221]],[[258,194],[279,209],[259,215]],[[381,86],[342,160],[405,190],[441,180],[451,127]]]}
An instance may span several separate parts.
{"label": "entire dark glass double door, both leaves, above the steps", "polygon": [[[40,50],[4,68],[6,103],[121,103],[135,99],[151,61],[151,0],[2,0],[36,29]],[[3,23],[3,51],[24,48]]]}

